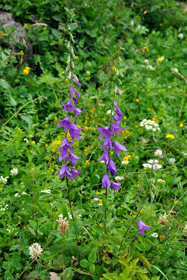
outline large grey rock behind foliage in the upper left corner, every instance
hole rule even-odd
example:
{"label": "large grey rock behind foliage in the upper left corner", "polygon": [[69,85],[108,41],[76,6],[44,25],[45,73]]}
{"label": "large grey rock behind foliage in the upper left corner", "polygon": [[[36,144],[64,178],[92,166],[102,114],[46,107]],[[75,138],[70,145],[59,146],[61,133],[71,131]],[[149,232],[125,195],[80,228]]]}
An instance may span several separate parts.
{"label": "large grey rock behind foliage in the upper left corner", "polygon": [[[1,23],[1,28],[9,28],[9,27],[16,27],[16,30],[13,31],[13,37],[17,38],[19,41],[26,41],[27,48],[25,48],[24,54],[26,53],[27,50],[31,50],[27,56],[25,57],[25,61],[29,62],[29,58],[32,56],[32,44],[27,40],[26,37],[26,31],[23,29],[23,26],[20,22],[16,22],[14,16],[11,13],[7,12],[2,12],[0,14],[0,23]],[[10,38],[11,40],[11,38]],[[17,42],[14,42],[12,44],[13,49],[17,50],[16,47]]]}

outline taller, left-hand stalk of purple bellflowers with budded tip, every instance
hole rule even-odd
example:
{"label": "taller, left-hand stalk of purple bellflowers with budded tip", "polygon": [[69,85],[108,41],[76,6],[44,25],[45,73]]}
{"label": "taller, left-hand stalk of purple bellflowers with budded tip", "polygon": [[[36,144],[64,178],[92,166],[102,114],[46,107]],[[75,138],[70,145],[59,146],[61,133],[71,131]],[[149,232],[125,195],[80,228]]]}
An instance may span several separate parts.
{"label": "taller, left-hand stalk of purple bellflowers with budded tip", "polygon": [[[75,119],[83,110],[78,109],[74,105],[78,105],[78,101],[76,97],[80,98],[80,94],[75,88],[76,86],[81,86],[78,77],[75,75],[75,64],[74,60],[75,54],[73,47],[71,43],[75,43],[74,41],[74,36],[71,33],[71,28],[72,25],[76,25],[76,23],[72,23],[72,19],[75,16],[74,9],[71,9],[71,19],[70,19],[70,27],[69,27],[69,34],[70,34],[70,39],[69,41],[66,40],[67,42],[67,48],[69,49],[68,58],[67,58],[67,67],[66,67],[66,72],[67,72],[67,78],[69,79],[69,83],[67,83],[67,87],[69,88],[69,98],[67,103],[62,102],[62,106],[64,109],[62,111],[67,111],[66,112],[66,117],[64,119],[59,119],[60,124],[57,125],[57,128],[62,128],[64,127],[64,132],[65,132],[65,138],[62,141],[61,146],[57,151],[61,151],[59,154],[59,162],[62,161],[62,167],[58,171],[58,173],[55,175],[60,174],[61,180],[66,177],[66,185],[67,185],[67,193],[68,193],[68,200],[69,200],[69,206],[71,210],[71,216],[72,220],[74,222],[74,216],[71,208],[71,198],[70,198],[70,191],[69,191],[69,184],[68,184],[68,179],[69,180],[74,180],[78,175],[81,173],[81,169],[76,170],[75,169],[75,164],[77,163],[77,160],[81,160],[80,157],[74,155],[74,150],[72,148],[75,139],[80,139],[81,138],[81,133],[80,129],[83,128],[78,128],[76,124],[72,121]],[[76,97],[75,97],[75,96]],[[75,114],[75,117],[73,119],[70,118],[70,112],[73,112]],[[70,136],[68,136],[70,135]],[[68,163],[67,163],[68,162]],[[70,165],[71,164],[71,165]]]}

